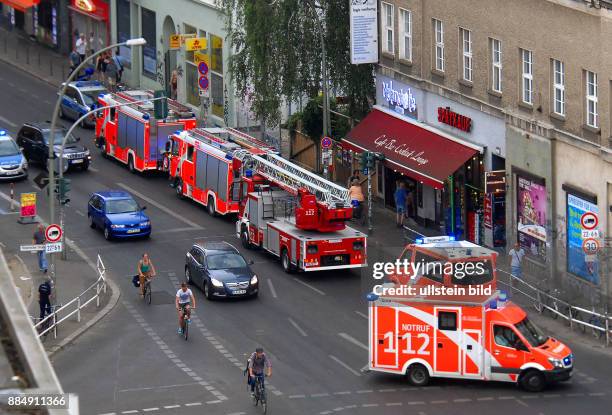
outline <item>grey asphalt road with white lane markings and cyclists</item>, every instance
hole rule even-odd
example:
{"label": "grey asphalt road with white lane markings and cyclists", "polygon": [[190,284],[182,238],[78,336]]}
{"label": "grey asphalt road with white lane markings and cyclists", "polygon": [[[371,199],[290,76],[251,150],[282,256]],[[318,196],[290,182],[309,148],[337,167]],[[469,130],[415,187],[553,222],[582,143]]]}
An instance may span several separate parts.
{"label": "grey asphalt road with white lane markings and cyclists", "polygon": [[[0,63],[0,88],[0,127],[16,132],[25,121],[48,119],[55,98],[49,85]],[[413,388],[401,377],[361,372],[367,362],[367,308],[359,272],[287,275],[271,256],[242,249],[231,220],[211,218],[201,206],[179,200],[161,175],[133,175],[100,157],[91,130],[79,129],[77,135],[92,149],[94,161],[88,172],[69,173],[66,233],[91,258],[102,256],[121,290],[111,314],[54,357],[65,390],[78,393],[83,414],[259,413],[242,375],[247,356],[259,345],[273,365],[268,379],[273,414],[536,415],[586,408],[610,413],[610,353],[579,341],[570,343],[575,378],[542,394],[493,382],[435,380]],[[17,192],[33,189],[31,180],[40,169],[31,170],[30,181],[18,183]],[[107,242],[88,227],[89,194],[108,188],[128,190],[147,205],[150,240]],[[8,193],[8,185],[0,184],[0,191]],[[195,289],[197,309],[186,342],[176,333],[173,301],[185,252],[198,240],[238,246],[255,261],[261,293],[254,300],[210,302]],[[145,251],[158,274],[150,306],[131,285]],[[567,334],[557,335],[563,340]]]}

